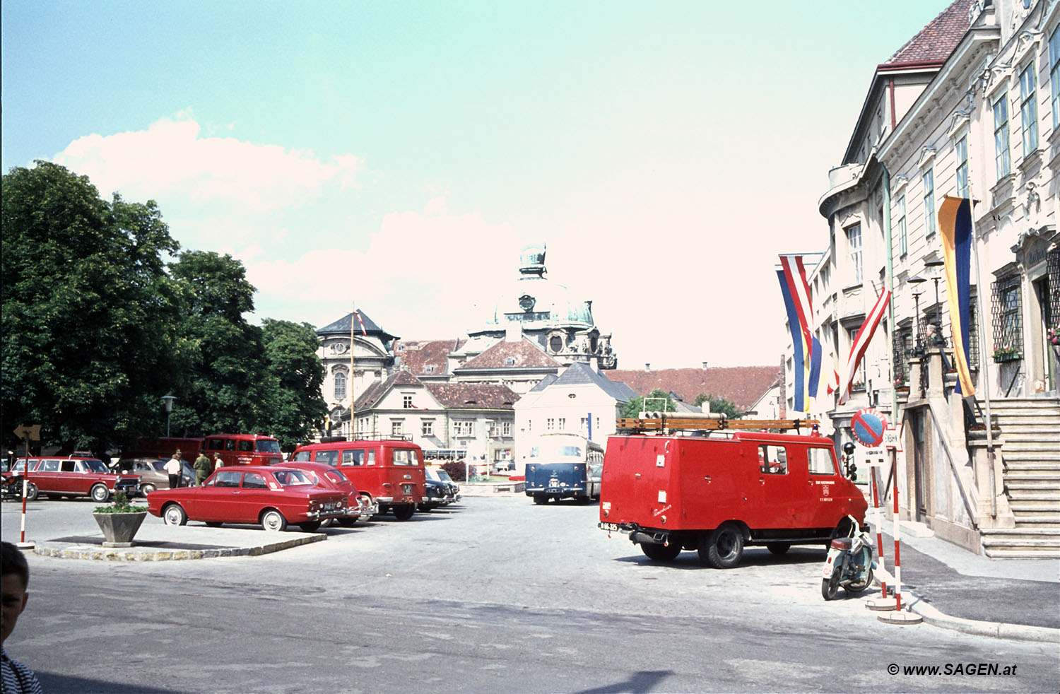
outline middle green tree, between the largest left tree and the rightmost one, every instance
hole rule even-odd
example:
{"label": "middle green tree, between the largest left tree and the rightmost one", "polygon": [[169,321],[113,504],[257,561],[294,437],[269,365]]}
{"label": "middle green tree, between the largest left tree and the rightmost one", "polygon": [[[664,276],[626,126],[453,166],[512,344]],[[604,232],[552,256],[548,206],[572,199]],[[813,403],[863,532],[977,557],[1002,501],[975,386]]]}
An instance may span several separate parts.
{"label": "middle green tree, between the largest left tree and the rightmost one", "polygon": [[243,263],[212,251],[180,253],[170,271],[184,297],[189,367],[175,391],[173,428],[187,435],[261,432],[273,410],[262,328],[243,317],[254,287]]}

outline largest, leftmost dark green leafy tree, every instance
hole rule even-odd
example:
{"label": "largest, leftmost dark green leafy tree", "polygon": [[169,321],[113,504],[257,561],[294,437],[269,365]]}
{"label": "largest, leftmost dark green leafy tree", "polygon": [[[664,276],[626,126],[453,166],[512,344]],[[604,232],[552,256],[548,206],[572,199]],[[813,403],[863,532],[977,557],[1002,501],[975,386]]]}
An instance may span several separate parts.
{"label": "largest, leftmost dark green leafy tree", "polygon": [[186,354],[156,203],[38,161],[3,176],[2,228],[4,435],[40,424],[41,445],[103,452],[156,425]]}

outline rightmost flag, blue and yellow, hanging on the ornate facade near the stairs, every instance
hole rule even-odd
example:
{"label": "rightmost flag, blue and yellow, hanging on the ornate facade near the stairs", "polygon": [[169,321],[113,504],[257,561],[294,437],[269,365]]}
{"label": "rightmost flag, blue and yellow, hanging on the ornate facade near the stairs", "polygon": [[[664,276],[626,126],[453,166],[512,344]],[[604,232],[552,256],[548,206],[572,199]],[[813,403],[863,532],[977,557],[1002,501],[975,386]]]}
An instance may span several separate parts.
{"label": "rightmost flag, blue and yellow, hanging on the ornate facade near the stairs", "polygon": [[974,395],[972,373],[968,366],[969,304],[971,295],[972,202],[968,198],[946,196],[938,210],[938,229],[946,263],[946,299],[950,306],[954,362],[957,367],[955,392]]}

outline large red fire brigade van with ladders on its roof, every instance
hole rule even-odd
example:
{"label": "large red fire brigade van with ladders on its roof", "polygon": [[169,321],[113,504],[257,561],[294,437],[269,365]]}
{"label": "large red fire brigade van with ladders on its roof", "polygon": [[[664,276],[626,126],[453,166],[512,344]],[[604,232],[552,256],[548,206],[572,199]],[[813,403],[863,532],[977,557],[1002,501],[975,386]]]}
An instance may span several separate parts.
{"label": "large red fire brigade van with ladders on its roof", "polygon": [[614,435],[607,441],[600,528],[630,535],[651,559],[696,550],[707,566],[740,563],[744,546],[783,554],[827,547],[868,503],[820,435],[724,431]]}

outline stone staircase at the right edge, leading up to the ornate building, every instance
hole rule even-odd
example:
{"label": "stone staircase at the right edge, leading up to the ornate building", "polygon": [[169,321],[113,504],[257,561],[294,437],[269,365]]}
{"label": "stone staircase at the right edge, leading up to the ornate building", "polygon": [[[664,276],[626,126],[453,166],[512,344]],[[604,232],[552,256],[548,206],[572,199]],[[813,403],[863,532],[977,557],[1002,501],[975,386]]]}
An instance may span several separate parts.
{"label": "stone staircase at the right edge, leading up to the ornate building", "polygon": [[[982,403],[980,403],[982,407]],[[984,530],[983,551],[1004,558],[1060,558],[1060,398],[990,402],[1001,429],[1013,530]]]}

